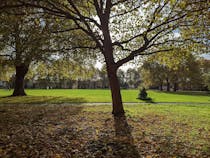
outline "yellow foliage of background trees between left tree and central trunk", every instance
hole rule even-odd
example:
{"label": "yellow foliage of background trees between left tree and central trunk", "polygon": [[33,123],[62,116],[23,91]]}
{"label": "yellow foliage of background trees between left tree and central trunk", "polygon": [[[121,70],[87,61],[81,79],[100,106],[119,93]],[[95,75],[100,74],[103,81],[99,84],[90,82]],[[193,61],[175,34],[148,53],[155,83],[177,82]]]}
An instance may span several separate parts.
{"label": "yellow foliage of background trees between left tree and central trunk", "polygon": [[[68,81],[87,80],[93,78],[94,68],[90,65],[83,66],[81,63],[69,58],[59,58],[48,62],[38,62],[36,66],[29,70],[26,78],[33,81],[42,81],[45,88],[51,87],[54,83],[61,88],[70,87],[66,85]],[[60,84],[60,85],[58,85]]]}

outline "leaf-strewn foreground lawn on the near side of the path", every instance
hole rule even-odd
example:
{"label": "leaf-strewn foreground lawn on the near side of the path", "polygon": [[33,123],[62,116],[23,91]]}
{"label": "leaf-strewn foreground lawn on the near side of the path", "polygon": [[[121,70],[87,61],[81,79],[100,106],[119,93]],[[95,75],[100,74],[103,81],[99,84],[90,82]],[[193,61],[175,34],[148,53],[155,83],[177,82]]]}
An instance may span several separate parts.
{"label": "leaf-strewn foreground lawn on the near side of the path", "polygon": [[[37,93],[38,94],[38,93]],[[0,105],[0,157],[210,157],[210,106]]]}

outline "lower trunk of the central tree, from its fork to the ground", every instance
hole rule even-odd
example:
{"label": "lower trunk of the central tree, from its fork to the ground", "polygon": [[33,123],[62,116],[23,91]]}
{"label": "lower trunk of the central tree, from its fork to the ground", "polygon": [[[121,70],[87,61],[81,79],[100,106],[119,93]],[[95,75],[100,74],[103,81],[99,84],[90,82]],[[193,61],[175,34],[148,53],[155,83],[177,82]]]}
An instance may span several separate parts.
{"label": "lower trunk of the central tree, from its fork to the ground", "polygon": [[112,94],[112,106],[113,106],[112,114],[114,114],[114,116],[121,116],[125,112],[122,104],[120,84],[117,77],[117,69],[107,66],[107,73]]}

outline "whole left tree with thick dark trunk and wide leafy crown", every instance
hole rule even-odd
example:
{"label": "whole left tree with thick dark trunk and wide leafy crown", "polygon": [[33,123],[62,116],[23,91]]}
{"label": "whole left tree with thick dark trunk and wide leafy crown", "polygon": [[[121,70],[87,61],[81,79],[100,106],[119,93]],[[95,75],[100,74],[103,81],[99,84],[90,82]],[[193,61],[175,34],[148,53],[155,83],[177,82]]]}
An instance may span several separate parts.
{"label": "whole left tree with thick dark trunk and wide leafy crown", "polygon": [[[46,16],[31,15],[29,14],[31,10],[38,11],[37,9],[30,8],[23,8],[22,10],[13,9],[8,13],[3,12],[0,15],[0,22],[2,24],[0,26],[0,56],[10,61],[16,69],[13,96],[26,95],[24,91],[24,79],[30,64],[35,65],[39,61],[48,62],[49,60],[54,60],[53,58],[60,58],[62,56],[68,56],[69,60],[74,58],[75,60],[82,61],[82,55],[78,58],[72,51],[72,47],[74,47],[73,43],[78,42],[76,37],[80,36],[80,34],[77,32],[69,34],[67,32],[60,33],[58,36],[56,34],[57,31],[60,32],[60,29],[64,29],[66,22],[60,19],[54,22]],[[53,32],[55,30],[56,32]],[[86,57],[86,59],[88,58]],[[42,72],[44,70],[46,70],[45,73],[48,73],[46,68],[40,69]],[[63,71],[58,72],[56,76],[63,73]]]}

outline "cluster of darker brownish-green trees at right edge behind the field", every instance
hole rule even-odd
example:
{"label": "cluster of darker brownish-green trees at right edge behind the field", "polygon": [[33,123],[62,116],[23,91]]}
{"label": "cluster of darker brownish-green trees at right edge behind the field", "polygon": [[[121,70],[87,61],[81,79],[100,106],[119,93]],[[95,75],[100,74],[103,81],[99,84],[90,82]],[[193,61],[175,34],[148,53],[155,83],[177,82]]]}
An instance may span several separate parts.
{"label": "cluster of darker brownish-green trees at right edge behind the field", "polygon": [[142,85],[160,91],[210,90],[209,73],[210,60],[196,58],[183,50],[151,56],[141,68]]}

